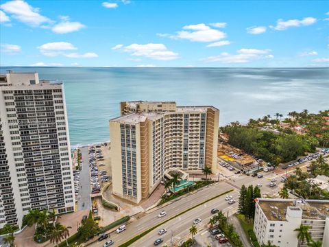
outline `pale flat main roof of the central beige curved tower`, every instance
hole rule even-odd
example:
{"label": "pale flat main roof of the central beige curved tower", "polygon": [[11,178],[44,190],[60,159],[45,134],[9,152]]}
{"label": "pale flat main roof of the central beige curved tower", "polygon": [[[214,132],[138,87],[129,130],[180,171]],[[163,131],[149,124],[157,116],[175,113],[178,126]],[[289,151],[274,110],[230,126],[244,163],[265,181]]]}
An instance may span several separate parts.
{"label": "pale flat main roof of the central beige curved tower", "polygon": [[214,106],[178,106],[176,111],[160,111],[160,112],[147,112],[147,113],[130,113],[110,119],[110,121],[117,121],[126,124],[138,124],[146,119],[158,119],[164,115],[178,114],[178,113],[206,113],[208,108],[217,110]]}

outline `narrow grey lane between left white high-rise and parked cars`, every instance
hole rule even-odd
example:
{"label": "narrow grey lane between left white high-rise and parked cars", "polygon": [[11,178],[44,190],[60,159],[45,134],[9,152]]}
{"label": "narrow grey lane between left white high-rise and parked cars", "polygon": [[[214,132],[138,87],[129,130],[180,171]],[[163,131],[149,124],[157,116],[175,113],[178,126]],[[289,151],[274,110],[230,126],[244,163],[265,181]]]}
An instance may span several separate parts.
{"label": "narrow grey lane between left white high-rise and parked cars", "polygon": [[77,211],[90,209],[90,168],[88,147],[81,148],[82,152],[82,171],[80,172],[80,189],[77,196]]}

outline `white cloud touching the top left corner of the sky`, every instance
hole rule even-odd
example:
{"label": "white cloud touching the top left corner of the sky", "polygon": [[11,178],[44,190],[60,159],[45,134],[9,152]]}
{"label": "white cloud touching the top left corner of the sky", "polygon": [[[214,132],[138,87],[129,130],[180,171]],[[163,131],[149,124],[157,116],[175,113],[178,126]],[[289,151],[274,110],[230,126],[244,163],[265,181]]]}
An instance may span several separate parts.
{"label": "white cloud touching the top left corner of the sky", "polygon": [[11,14],[14,19],[27,25],[39,26],[42,23],[51,23],[50,19],[39,14],[38,8],[33,8],[25,1],[8,1],[1,4],[0,7],[4,12]]}

